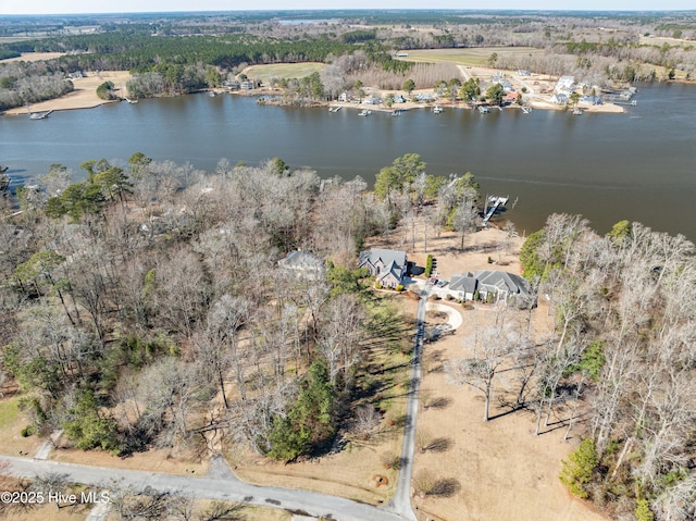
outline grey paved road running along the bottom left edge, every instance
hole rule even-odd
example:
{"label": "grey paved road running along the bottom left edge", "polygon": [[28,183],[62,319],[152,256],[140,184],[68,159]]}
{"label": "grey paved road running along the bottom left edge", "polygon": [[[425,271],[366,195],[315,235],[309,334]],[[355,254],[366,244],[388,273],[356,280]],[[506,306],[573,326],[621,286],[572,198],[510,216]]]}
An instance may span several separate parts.
{"label": "grey paved road running along the bottom left edge", "polygon": [[191,477],[0,456],[0,461],[3,460],[10,462],[10,472],[18,476],[34,477],[55,472],[67,474],[67,480],[74,483],[108,487],[110,483],[117,482],[123,486],[132,486],[140,491],[147,487],[161,492],[185,491],[198,498],[241,501],[294,510],[298,513],[303,511],[314,517],[331,514],[337,521],[403,521],[405,519],[386,509],[350,499],[307,491],[254,486],[229,477]]}

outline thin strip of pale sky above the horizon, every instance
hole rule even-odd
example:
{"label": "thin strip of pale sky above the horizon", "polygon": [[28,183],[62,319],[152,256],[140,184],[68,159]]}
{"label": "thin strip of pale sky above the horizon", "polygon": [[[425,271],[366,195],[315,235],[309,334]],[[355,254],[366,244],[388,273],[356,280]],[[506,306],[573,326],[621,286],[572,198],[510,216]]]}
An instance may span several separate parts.
{"label": "thin strip of pale sky above the horizon", "polygon": [[514,9],[579,11],[686,11],[694,0],[0,0],[3,14],[137,13],[294,9]]}

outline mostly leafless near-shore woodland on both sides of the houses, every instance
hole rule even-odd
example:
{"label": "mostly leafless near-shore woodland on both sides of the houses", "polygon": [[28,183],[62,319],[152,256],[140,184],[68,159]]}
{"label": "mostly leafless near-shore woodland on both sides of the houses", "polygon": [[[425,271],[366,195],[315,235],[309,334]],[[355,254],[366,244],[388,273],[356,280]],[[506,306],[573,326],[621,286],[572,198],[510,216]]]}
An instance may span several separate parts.
{"label": "mostly leafless near-shore woodland on both sides of the houses", "polygon": [[[414,153],[374,191],[278,158],[206,173],[137,152],[82,169],[74,183],[53,165],[0,223],[0,380],[20,387],[27,436],[63,429],[122,456],[203,455],[215,433],[295,461],[369,435],[385,414],[370,345],[408,352],[412,322],[365,290],[357,253],[374,235],[408,245],[417,220],[423,240],[451,230],[463,250],[481,211],[470,173],[428,175]],[[277,261],[297,249],[316,261],[288,275]],[[599,236],[561,214],[520,260],[554,331],[529,335],[533,309],[501,314],[447,363],[451,381],[488,404],[508,373],[536,434],[571,410],[566,435],[583,442],[560,479],[612,519],[693,519],[694,245],[625,221]]]}

